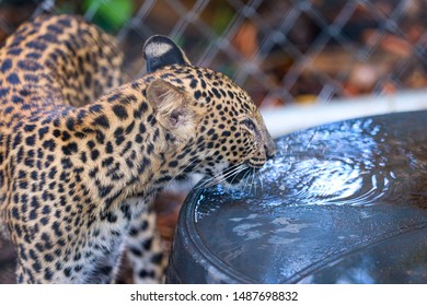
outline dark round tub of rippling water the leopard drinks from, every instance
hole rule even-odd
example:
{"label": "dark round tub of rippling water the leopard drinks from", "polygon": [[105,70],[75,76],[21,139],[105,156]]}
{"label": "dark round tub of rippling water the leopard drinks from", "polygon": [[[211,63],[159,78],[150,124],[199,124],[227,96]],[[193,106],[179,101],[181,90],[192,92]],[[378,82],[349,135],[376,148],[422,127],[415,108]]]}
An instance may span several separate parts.
{"label": "dark round tub of rippling water the leopard drinks from", "polygon": [[196,189],[196,240],[250,282],[427,282],[426,128],[417,111],[282,137],[253,184]]}

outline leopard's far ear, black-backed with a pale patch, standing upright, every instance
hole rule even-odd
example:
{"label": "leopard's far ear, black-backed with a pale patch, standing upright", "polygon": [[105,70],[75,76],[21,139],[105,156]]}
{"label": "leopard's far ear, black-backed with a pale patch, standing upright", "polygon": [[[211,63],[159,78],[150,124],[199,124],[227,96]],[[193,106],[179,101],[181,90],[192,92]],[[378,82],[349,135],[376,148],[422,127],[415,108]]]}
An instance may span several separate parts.
{"label": "leopard's far ear, black-backed with a pale patch, standing upright", "polygon": [[147,39],[142,49],[147,71],[154,72],[169,64],[191,64],[184,51],[169,37],[154,35]]}

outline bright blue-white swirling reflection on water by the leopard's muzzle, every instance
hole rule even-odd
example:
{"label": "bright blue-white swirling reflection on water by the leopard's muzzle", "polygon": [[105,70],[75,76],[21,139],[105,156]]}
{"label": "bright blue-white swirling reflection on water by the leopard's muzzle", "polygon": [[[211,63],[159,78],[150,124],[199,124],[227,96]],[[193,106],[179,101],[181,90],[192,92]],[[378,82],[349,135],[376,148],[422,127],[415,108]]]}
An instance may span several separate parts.
{"label": "bright blue-white swirling reflection on water by the leopard's muzzle", "polygon": [[259,180],[280,181],[288,203],[372,204],[395,177],[384,168],[384,137],[372,120],[291,134],[278,142],[286,150],[267,164]]}

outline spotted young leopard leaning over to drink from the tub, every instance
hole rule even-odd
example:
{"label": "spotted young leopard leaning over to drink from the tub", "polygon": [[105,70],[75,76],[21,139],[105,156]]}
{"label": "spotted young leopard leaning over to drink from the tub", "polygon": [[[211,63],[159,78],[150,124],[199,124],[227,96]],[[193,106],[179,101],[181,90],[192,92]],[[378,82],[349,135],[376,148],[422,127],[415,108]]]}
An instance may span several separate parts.
{"label": "spotted young leopard leaning over to drink from the tub", "polygon": [[42,15],[0,49],[0,219],[18,283],[112,283],[124,252],[138,282],[168,259],[153,201],[199,174],[239,188],[275,155],[250,95],[149,37],[126,80],[115,38],[83,17]]}

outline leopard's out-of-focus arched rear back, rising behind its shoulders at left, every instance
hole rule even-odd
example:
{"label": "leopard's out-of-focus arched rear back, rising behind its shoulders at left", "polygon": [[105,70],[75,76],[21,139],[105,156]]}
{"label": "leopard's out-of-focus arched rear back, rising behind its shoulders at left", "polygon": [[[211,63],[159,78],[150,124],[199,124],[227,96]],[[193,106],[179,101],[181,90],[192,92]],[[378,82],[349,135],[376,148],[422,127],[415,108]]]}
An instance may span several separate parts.
{"label": "leopard's out-of-focus arched rear back, rising behind its shoulders at left", "polygon": [[115,40],[80,16],[39,16],[0,50],[0,118],[82,106],[123,82]]}

